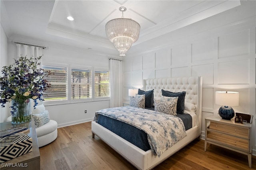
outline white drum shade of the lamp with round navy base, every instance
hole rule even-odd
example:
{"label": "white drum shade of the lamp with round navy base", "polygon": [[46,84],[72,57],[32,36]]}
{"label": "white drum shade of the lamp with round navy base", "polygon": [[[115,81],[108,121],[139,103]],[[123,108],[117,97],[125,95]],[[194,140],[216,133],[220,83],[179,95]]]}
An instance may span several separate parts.
{"label": "white drum shade of the lamp with round navy base", "polygon": [[215,104],[222,106],[239,106],[238,92],[215,92]]}

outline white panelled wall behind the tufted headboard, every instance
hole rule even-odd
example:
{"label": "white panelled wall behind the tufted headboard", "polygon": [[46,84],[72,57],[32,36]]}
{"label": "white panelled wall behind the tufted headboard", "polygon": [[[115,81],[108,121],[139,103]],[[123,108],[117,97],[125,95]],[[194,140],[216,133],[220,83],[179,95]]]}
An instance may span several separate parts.
{"label": "white panelled wall behind the tufted headboard", "polygon": [[[124,103],[128,89],[142,88],[143,79],[202,76],[202,135],[204,119],[218,116],[215,92],[240,93],[235,112],[255,115],[255,1],[178,29],[131,48],[124,58]],[[256,154],[256,130],[252,146]]]}

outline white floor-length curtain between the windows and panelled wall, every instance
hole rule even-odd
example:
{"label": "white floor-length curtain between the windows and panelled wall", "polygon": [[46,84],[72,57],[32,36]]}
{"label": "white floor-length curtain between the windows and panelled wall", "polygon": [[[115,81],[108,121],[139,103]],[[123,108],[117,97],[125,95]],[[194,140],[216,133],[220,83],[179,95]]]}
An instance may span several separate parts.
{"label": "white floor-length curtain between the windows and panelled wall", "polygon": [[110,107],[123,106],[123,62],[110,59]]}

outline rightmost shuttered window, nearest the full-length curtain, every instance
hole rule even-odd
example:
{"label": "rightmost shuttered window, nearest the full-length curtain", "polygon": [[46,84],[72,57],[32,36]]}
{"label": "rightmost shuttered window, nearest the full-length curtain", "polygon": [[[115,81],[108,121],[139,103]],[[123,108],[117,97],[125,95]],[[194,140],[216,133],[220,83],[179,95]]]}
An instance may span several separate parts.
{"label": "rightmost shuttered window, nearest the full-length curtain", "polygon": [[94,71],[94,97],[110,97],[110,82],[108,71]]}

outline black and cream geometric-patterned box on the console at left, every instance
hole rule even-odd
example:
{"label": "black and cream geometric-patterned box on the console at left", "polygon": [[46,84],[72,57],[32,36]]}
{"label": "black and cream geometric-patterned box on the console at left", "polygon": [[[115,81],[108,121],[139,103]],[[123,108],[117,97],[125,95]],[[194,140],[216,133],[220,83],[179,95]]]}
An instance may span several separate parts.
{"label": "black and cream geometric-patterned box on the console at left", "polygon": [[32,138],[25,133],[16,133],[0,139],[1,163],[32,152]]}

